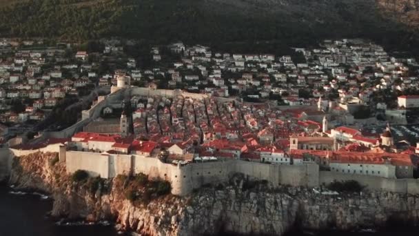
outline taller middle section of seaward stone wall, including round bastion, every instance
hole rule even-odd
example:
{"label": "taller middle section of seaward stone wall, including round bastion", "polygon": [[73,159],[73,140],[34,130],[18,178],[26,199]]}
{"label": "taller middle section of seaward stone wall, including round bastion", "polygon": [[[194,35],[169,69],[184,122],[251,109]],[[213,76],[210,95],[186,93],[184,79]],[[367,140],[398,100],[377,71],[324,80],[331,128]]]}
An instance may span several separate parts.
{"label": "taller middle section of seaward stone wall, including round bastion", "polygon": [[86,170],[93,176],[112,178],[116,175],[143,173],[151,179],[164,179],[172,184],[174,195],[187,195],[205,184],[228,181],[233,173],[243,173],[254,179],[265,179],[278,186],[318,186],[318,166],[280,166],[249,161],[216,161],[194,163],[186,166],[165,164],[153,157],[141,155],[109,155],[68,151],[66,153],[68,173]]}

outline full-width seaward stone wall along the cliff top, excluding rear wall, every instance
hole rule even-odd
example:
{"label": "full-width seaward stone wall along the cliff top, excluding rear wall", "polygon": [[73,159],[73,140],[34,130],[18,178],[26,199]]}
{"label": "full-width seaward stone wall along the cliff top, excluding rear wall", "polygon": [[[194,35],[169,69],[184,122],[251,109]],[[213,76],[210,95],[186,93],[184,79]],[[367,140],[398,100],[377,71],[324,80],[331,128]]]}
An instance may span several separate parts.
{"label": "full-width seaward stone wall along the cliff top, excluding rear wall", "polygon": [[228,181],[234,173],[243,173],[249,178],[264,179],[274,186],[290,185],[316,188],[331,181],[354,179],[369,190],[384,190],[394,193],[419,194],[418,179],[388,179],[367,175],[345,175],[331,171],[320,171],[318,164],[273,165],[251,161],[231,160],[187,164],[185,166],[165,164],[154,157],[142,155],[112,155],[108,153],[88,153],[67,150],[63,144],[50,144],[36,150],[0,149],[0,179],[8,176],[13,157],[30,153],[59,153],[60,161],[65,161],[68,173],[87,170],[91,176],[104,178],[130,173],[144,173],[154,179],[165,179],[172,184],[172,194],[188,195],[205,184]]}

